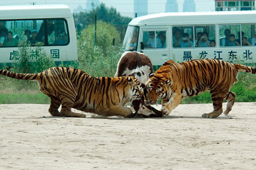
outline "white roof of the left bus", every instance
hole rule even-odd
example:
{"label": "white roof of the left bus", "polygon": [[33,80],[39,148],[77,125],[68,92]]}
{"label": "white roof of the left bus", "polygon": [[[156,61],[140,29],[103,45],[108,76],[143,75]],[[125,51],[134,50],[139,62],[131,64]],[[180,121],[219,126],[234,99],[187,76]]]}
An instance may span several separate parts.
{"label": "white roof of the left bus", "polygon": [[0,19],[38,19],[72,17],[67,5],[16,5],[0,6]]}

